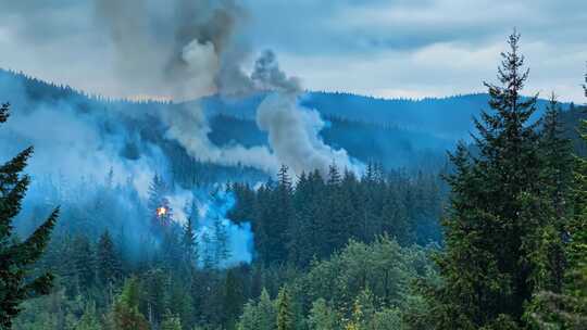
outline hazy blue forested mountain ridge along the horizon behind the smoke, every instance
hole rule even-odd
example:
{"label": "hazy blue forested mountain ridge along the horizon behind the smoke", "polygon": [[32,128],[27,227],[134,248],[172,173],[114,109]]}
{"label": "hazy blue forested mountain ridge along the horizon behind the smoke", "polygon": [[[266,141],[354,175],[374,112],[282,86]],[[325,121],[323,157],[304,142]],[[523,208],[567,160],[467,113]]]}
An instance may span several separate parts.
{"label": "hazy blue forested mountain ridge along the horizon behind the smoke", "polygon": [[[161,123],[152,116],[135,114],[149,114],[155,107],[173,111],[175,106],[201,102],[212,128],[209,135],[211,141],[218,145],[261,145],[267,143],[266,134],[257,128],[254,114],[264,97],[261,93],[235,100],[214,96],[179,104],[109,100],[85,94],[67,86],[0,71],[0,102],[10,101],[15,111],[30,111],[39,104],[72,106],[79,113],[117,110],[127,115],[117,120],[134,131],[128,136],[139,135],[142,140],[162,144],[167,155],[173,155],[172,161],[180,160],[182,164],[189,162],[189,157],[176,143],[163,138],[164,127]],[[351,156],[363,162],[380,162],[388,168],[422,169],[441,166],[446,162],[446,150],[451,149],[458,139],[469,138],[469,132],[473,131],[472,117],[487,109],[487,99],[488,96],[483,93],[441,99],[386,100],[340,92],[308,92],[300,104],[315,109],[328,123],[321,132],[326,143],[344,148]],[[539,101],[539,113],[545,104],[546,101]],[[108,128],[108,125],[104,127]],[[128,142],[129,147],[125,148],[124,153],[133,155],[136,143]],[[207,173],[210,170],[208,168]],[[208,174],[205,176],[209,177]]]}

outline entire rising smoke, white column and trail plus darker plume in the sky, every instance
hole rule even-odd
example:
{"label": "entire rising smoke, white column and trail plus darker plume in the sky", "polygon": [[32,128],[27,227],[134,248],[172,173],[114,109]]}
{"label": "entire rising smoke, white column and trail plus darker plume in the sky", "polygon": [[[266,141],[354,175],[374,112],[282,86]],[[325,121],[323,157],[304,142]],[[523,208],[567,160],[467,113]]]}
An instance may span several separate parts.
{"label": "entire rising smoke, white column and trail plus darker plume in the sky", "polygon": [[[120,53],[122,78],[130,87],[137,85],[143,94],[163,92],[174,100],[213,93],[238,98],[273,92],[257,115],[259,128],[268,132],[270,148],[214,145],[208,138],[211,128],[199,105],[161,113],[168,126],[166,138],[179,142],[196,160],[242,164],[270,174],[275,174],[282,164],[296,174],[316,168],[325,172],[333,163],[359,170],[345,150],[333,150],[322,141],[319,132],[324,122],[317,112],[298,105],[300,80],[279,68],[272,51],[259,56],[250,75],[243,73],[242,62],[249,51],[236,41],[236,34],[243,30],[239,24],[246,14],[235,0],[173,0],[168,3],[172,15],[164,17],[165,24],[154,30],[150,28],[151,21],[165,11],[153,5],[150,8],[141,0],[126,4],[115,0],[98,2],[98,16],[110,29]],[[153,13],[153,9],[159,12]],[[174,37],[172,43],[168,36]]]}

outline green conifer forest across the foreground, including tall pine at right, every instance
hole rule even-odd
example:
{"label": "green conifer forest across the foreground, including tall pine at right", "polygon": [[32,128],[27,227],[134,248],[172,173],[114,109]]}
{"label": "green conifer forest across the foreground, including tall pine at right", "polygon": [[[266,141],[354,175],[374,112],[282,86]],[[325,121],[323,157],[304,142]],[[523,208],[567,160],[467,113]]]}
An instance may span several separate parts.
{"label": "green conifer forest across the foreground, including tall pine at right", "polygon": [[[160,228],[143,241],[158,245],[149,256],[129,257],[104,231],[57,237],[41,257],[57,213],[22,242],[12,234],[28,183],[20,175],[25,151],[0,168],[1,326],[585,329],[587,160],[573,155],[554,96],[534,119],[537,96],[522,97],[520,35],[508,41],[498,82],[485,84],[489,110],[475,119],[473,145],[450,155],[446,207],[433,175],[372,164],[358,178],[333,164],[326,176],[301,174],[294,183],[283,167],[255,189],[229,187],[238,201],[229,217],[252,224],[250,265],[223,268],[222,253],[201,263],[193,223],[179,227],[152,210],[145,220]],[[155,178],[148,207],[167,205],[163,190]],[[213,245],[225,250],[222,240]]]}

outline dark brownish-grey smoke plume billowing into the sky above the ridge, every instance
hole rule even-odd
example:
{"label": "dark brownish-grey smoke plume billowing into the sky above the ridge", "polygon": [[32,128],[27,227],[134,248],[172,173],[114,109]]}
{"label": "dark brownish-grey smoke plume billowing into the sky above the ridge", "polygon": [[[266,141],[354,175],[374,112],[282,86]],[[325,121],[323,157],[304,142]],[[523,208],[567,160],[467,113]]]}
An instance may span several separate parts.
{"label": "dark brownish-grey smoke plume billowing into the sky above the ridge", "polygon": [[129,93],[188,100],[241,75],[235,54],[246,52],[233,39],[245,17],[234,0],[96,0],[96,13]]}

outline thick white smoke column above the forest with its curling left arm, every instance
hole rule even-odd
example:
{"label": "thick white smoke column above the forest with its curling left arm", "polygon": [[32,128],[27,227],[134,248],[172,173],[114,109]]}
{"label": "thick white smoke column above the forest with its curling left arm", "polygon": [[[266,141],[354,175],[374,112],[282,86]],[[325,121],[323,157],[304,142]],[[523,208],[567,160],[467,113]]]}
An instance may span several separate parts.
{"label": "thick white smoke column above the forest with its curling left arm", "polygon": [[178,111],[163,113],[168,125],[166,137],[177,140],[188,153],[200,161],[223,165],[242,164],[276,174],[284,164],[294,174],[319,169],[326,174],[332,164],[359,174],[361,165],[345,150],[334,150],[320,138],[325,123],[315,110],[298,105],[302,93],[300,80],[288,77],[272,51],[257,60],[250,75],[251,92],[270,94],[257,110],[257,125],[268,135],[270,148],[245,148],[240,144],[218,148],[208,135],[210,125],[204,112],[197,105],[180,106]]}

